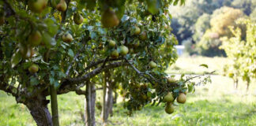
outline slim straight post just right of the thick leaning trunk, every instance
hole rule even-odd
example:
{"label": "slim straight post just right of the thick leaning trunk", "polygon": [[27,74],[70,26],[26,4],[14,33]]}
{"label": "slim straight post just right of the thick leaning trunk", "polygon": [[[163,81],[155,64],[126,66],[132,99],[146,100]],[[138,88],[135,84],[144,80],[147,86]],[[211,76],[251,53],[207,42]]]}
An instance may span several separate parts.
{"label": "slim straight post just right of the thick leaning trunk", "polygon": [[57,100],[57,91],[55,87],[51,85],[50,87],[51,93],[51,115],[54,126],[59,126],[58,121],[58,100]]}

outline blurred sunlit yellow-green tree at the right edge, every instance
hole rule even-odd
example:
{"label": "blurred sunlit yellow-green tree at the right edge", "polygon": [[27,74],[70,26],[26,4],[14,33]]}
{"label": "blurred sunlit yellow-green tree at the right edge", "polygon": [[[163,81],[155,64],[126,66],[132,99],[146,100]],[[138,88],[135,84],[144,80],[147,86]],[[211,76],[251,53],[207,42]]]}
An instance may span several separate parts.
{"label": "blurred sunlit yellow-green tree at the right edge", "polygon": [[[242,30],[239,28],[231,28],[234,37],[223,38],[223,46],[221,46],[228,57],[232,59],[233,67],[232,72],[230,72],[231,77],[240,76],[247,83],[247,91],[249,90],[250,81],[255,78],[256,66],[255,66],[255,31],[256,25],[251,20],[238,20],[237,24],[246,24],[246,39],[242,39]],[[239,74],[236,74],[239,73]]]}

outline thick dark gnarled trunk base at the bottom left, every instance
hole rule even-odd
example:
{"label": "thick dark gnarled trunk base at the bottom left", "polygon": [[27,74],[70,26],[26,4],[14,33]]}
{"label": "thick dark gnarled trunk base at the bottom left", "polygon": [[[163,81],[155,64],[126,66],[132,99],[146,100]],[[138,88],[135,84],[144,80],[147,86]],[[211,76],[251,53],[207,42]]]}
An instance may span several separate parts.
{"label": "thick dark gnarled trunk base at the bottom left", "polygon": [[42,97],[41,95],[24,102],[24,105],[28,107],[38,126],[53,126],[51,113],[47,108],[47,104],[46,97]]}

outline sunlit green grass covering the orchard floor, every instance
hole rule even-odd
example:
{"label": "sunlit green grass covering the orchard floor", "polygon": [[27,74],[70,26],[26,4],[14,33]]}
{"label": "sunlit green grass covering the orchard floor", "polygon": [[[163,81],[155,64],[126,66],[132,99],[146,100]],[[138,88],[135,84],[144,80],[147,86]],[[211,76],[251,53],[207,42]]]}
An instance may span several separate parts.
{"label": "sunlit green grass covering the orchard floor", "polygon": [[[194,69],[201,63],[210,63],[209,70],[220,72],[224,62],[227,59],[220,57],[182,57],[176,62],[176,66],[187,68],[186,72],[191,73],[188,70],[190,67]],[[180,71],[184,72],[184,69]],[[208,70],[201,68],[194,73],[200,72]],[[213,83],[196,87],[194,94],[187,95],[186,104],[177,104],[175,113],[171,115],[164,113],[164,107],[160,105],[145,106],[132,117],[127,117],[126,110],[122,109],[122,102],[119,102],[114,108],[114,116],[110,117],[109,125],[256,125],[256,82],[251,83],[250,91],[246,92],[246,85],[242,81],[239,89],[235,90],[231,79],[217,75],[211,77]],[[61,125],[83,125],[84,98],[73,93],[58,96]],[[0,91],[0,122],[0,126],[36,125],[28,109],[24,105],[16,104],[15,99],[3,91]],[[96,122],[100,125],[98,109]]]}

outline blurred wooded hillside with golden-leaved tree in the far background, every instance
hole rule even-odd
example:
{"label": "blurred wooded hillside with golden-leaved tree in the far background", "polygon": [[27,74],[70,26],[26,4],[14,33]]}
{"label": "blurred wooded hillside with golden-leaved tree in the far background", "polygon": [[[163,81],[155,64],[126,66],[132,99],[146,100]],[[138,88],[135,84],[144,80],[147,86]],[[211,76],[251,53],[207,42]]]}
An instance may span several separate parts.
{"label": "blurred wooded hillside with golden-leaved tree in the far background", "polygon": [[226,55],[219,48],[221,38],[232,36],[230,27],[243,29],[237,20],[256,21],[255,0],[187,0],[185,6],[171,6],[170,11],[179,45],[185,45],[189,54],[209,57]]}

